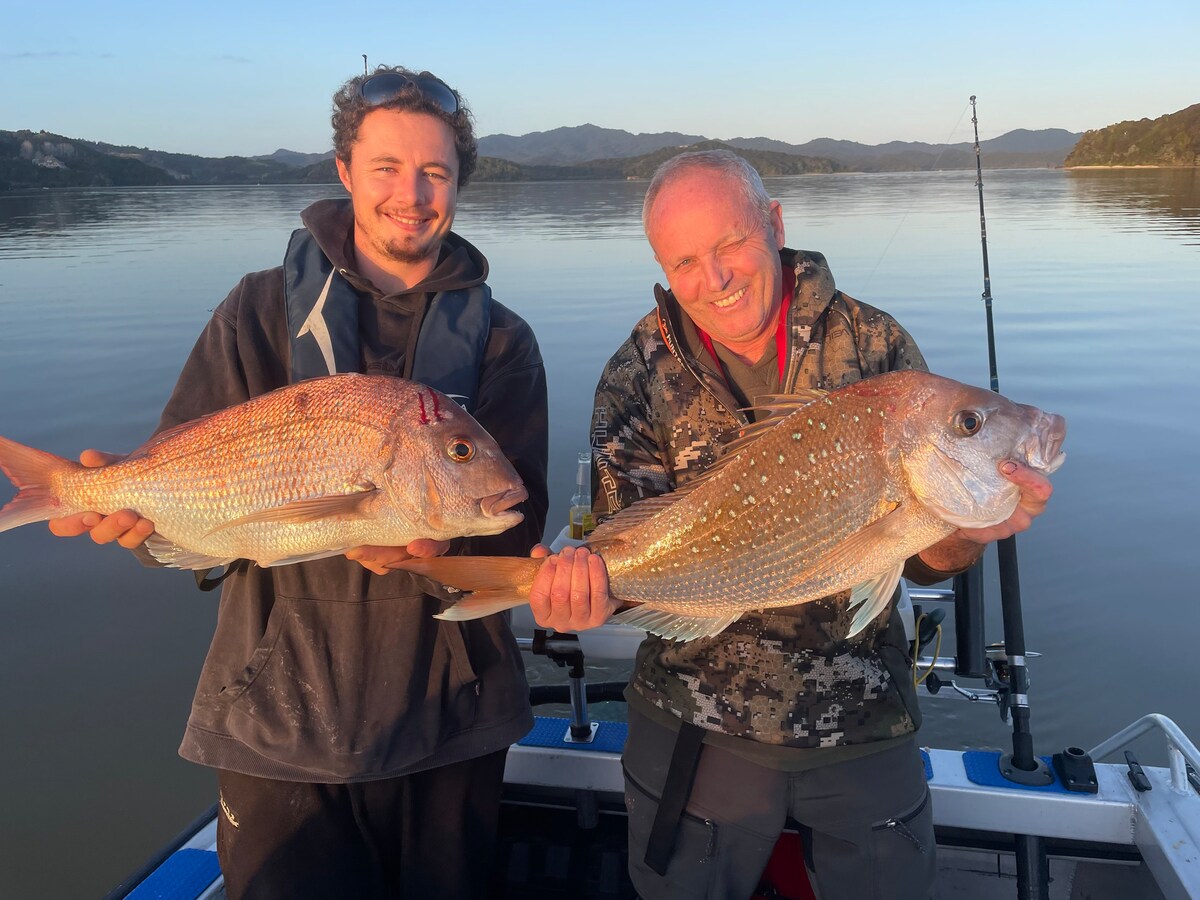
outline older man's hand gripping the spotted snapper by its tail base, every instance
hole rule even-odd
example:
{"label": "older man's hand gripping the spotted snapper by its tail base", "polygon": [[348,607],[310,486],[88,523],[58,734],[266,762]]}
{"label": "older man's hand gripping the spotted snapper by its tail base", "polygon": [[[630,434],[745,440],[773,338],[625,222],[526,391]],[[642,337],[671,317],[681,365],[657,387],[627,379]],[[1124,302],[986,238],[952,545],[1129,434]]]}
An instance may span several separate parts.
{"label": "older man's hand gripping the spotted snapper by its tail base", "polygon": [[545,557],[529,592],[533,618],[554,631],[584,631],[608,620],[620,605],[608,595],[608,569],[587,547],[564,547],[559,553],[540,544],[530,557]]}

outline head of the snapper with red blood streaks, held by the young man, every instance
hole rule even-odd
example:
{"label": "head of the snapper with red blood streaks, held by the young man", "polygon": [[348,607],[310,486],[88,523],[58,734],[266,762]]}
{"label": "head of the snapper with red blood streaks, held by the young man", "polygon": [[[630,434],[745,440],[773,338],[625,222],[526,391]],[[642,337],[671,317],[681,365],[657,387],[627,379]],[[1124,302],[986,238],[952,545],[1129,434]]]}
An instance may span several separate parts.
{"label": "head of the snapper with red blood streaks, held by the young man", "polygon": [[444,394],[416,388],[414,408],[394,424],[392,460],[404,463],[385,469],[391,504],[434,539],[499,534],[521,522],[515,506],[529,494],[492,436]]}

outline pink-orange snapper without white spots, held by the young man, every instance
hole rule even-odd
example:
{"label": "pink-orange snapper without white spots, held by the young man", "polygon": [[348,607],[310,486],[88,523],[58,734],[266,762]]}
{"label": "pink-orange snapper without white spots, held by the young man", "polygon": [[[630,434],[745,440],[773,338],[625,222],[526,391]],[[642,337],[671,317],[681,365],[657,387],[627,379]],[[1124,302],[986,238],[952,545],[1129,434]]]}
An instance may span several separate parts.
{"label": "pink-orange snapper without white spots, held by the young man", "polygon": [[163,432],[86,468],[0,437],[19,488],[0,532],[94,510],[155,523],[160,562],[284,565],[362,545],[498,534],[522,520],[520,476],[444,394],[388,376],[313,378]]}

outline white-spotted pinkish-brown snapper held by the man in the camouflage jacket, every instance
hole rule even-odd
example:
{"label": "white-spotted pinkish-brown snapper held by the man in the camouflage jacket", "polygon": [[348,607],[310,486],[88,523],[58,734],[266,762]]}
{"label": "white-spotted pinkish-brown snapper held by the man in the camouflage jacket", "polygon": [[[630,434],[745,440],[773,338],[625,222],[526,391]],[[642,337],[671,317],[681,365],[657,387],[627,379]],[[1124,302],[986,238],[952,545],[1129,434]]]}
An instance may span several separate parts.
{"label": "white-spotted pinkish-brown snapper held by the man in the camouflage jacket", "polygon": [[[749,610],[850,590],[852,636],[887,608],[908,557],[1012,515],[1020,491],[1001,461],[1051,473],[1066,458],[1062,416],[924,372],[776,407],[702,479],[592,533],[612,595],[638,604],[616,622],[688,641]],[[539,565],[473,557],[403,568],[475,592],[442,613],[467,619],[527,602]]]}

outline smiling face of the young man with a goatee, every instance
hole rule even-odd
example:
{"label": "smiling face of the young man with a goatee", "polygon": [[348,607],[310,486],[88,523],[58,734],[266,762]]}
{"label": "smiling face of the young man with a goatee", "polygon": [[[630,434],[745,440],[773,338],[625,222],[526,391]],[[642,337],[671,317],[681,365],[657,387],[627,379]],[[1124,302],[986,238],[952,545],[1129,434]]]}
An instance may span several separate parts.
{"label": "smiling face of the young man with a goatee", "polygon": [[337,174],[354,204],[359,266],[384,290],[412,287],[438,262],[458,198],[454,132],[425,113],[376,109]]}

